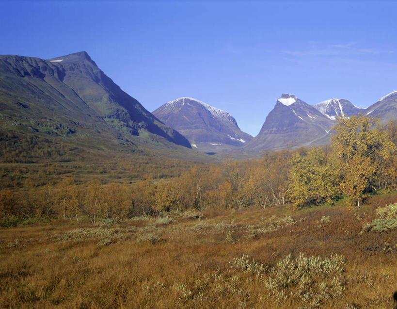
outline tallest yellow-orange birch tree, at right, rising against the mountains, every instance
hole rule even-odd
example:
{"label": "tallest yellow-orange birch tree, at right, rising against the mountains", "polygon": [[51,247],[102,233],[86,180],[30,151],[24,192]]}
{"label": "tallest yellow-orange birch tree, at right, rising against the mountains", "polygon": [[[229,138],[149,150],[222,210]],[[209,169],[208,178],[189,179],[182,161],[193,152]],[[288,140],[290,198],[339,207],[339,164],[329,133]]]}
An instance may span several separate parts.
{"label": "tallest yellow-orange birch tree, at right, rising against the mountains", "polygon": [[359,114],[339,118],[332,129],[331,141],[336,164],[341,167],[343,180],[340,188],[360,207],[366,194],[379,188],[381,163],[395,149],[379,120]]}

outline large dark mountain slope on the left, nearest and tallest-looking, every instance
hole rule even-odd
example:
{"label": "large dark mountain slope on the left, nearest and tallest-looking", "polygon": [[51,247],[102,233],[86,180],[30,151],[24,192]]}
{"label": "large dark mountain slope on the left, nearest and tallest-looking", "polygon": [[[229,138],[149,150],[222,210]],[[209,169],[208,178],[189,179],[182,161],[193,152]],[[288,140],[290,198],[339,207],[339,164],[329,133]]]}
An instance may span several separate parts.
{"label": "large dark mountain slope on the left, nearest and tallest-looking", "polygon": [[142,141],[191,147],[121,90],[85,51],[48,60],[1,55],[0,129],[94,146]]}

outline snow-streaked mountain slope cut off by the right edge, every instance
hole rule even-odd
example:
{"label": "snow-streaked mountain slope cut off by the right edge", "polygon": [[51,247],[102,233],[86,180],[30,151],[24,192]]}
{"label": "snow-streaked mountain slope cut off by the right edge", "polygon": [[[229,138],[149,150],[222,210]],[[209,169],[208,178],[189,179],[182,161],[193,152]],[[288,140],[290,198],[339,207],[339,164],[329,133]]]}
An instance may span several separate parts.
{"label": "snow-streaked mountain slope cut off by the right edge", "polygon": [[380,98],[365,110],[365,114],[381,118],[381,123],[397,119],[397,91]]}

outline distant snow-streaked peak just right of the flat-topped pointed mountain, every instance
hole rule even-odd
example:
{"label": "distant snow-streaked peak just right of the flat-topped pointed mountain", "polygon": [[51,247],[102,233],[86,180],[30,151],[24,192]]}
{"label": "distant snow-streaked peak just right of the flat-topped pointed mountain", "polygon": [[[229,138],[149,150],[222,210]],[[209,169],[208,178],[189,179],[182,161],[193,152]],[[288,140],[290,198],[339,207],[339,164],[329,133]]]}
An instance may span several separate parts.
{"label": "distant snow-streaked peak just right of the flat-topped pointed mountain", "polygon": [[365,109],[353,105],[349,100],[344,98],[333,98],[322,101],[314,104],[313,107],[321,114],[333,120],[336,119],[336,117],[354,116],[365,111]]}

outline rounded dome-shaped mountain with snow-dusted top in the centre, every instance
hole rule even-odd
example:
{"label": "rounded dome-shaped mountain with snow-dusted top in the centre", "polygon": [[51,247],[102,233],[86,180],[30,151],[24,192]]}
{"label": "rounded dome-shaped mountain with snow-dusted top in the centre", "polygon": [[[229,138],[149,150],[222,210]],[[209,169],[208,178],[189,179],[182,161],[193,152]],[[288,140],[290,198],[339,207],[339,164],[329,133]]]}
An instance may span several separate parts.
{"label": "rounded dome-shaped mountain with snow-dusted top in the centre", "polygon": [[184,135],[200,151],[219,152],[241,147],[252,136],[238,128],[225,111],[194,98],[178,98],[160,106],[153,114]]}

